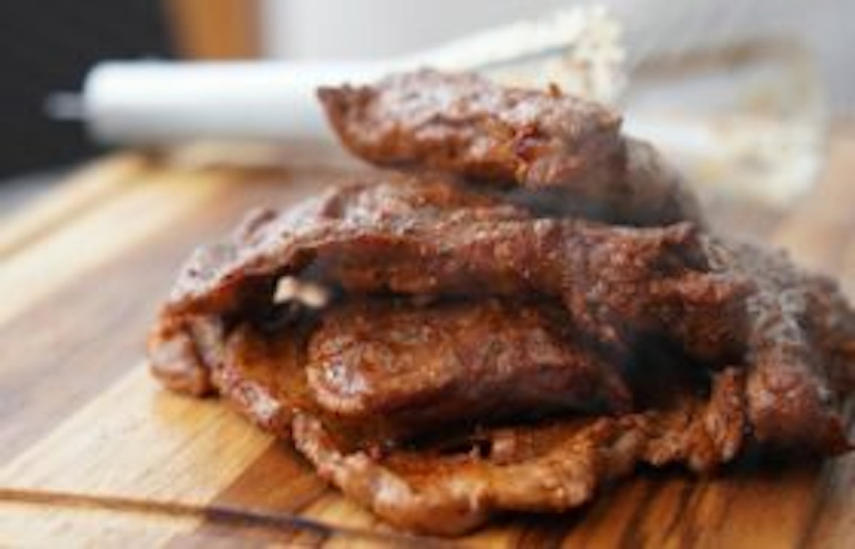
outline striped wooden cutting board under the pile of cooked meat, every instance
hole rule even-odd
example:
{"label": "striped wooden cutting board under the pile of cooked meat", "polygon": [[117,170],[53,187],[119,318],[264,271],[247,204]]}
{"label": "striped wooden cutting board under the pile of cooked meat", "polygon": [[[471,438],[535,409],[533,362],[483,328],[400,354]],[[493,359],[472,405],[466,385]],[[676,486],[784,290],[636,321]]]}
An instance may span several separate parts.
{"label": "striped wooden cutting board under the pile of cooked meat", "polygon": [[[322,156],[319,156],[321,160]],[[303,165],[306,162],[301,162]],[[0,225],[0,546],[415,545],[215,400],[161,390],[144,363],[156,306],[193,245],[253,204],[340,180],[324,167],[95,162]],[[788,213],[714,221],[789,248],[855,289],[855,133]],[[716,478],[643,471],[593,505],[509,517],[471,546],[855,546],[855,456],[746,460]]]}

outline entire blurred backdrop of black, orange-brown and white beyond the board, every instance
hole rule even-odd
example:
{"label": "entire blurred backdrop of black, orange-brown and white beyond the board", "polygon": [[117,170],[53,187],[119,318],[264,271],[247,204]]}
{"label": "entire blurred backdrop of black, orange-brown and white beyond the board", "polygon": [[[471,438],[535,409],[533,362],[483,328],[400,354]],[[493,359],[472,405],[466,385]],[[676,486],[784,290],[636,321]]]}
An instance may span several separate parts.
{"label": "entire blurred backdrop of black, orange-brown and white beyond the board", "polygon": [[[784,39],[811,56],[834,119],[855,112],[851,0],[601,0],[623,27],[630,79],[671,52]],[[351,59],[392,56],[574,5],[567,0],[3,0],[0,204],[103,151],[44,100],[79,90],[103,59]]]}

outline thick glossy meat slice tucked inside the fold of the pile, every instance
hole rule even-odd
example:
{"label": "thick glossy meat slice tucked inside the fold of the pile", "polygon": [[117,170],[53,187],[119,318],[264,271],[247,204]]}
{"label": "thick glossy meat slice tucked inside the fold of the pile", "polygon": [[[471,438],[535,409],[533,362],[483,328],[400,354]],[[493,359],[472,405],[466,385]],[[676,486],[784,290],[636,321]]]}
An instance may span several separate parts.
{"label": "thick glossy meat slice tucked inside the fold of the pile", "polygon": [[616,367],[545,305],[345,304],[320,328],[241,324],[222,346],[218,393],[281,437],[295,410],[369,447],[510,415],[632,405]]}

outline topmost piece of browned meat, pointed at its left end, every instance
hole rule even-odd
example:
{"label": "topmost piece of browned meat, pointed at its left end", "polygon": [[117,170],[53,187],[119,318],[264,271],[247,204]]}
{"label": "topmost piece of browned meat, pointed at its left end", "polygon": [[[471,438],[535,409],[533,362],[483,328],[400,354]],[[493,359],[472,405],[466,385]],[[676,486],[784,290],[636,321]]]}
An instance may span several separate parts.
{"label": "topmost piece of browned meat, pointed at its left end", "polygon": [[422,70],[318,94],[342,143],[380,166],[449,170],[510,188],[512,199],[547,213],[635,225],[701,221],[693,195],[656,151],[624,141],[618,115],[554,89]]}

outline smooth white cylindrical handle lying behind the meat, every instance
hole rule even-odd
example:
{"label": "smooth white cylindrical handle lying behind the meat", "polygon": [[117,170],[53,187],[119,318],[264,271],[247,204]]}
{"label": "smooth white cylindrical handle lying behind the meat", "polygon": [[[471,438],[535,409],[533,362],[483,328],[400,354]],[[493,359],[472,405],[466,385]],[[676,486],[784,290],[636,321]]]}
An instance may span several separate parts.
{"label": "smooth white cylindrical handle lying behind the meat", "polygon": [[374,80],[379,62],[104,62],[86,77],[93,137],[163,144],[186,139],[318,139],[330,131],[317,86]]}

